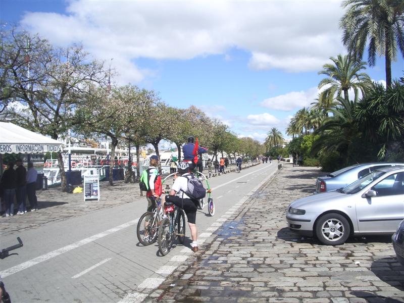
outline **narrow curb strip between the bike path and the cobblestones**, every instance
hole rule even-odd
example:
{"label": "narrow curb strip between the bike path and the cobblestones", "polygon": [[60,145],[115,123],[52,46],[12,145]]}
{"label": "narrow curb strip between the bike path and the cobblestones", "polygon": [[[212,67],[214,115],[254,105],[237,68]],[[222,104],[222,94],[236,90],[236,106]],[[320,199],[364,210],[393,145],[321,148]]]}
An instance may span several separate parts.
{"label": "narrow curb strip between the bike path and the cobblestones", "polygon": [[[213,250],[210,248],[212,247],[212,244],[217,240],[217,238],[220,237],[218,234],[218,231],[223,227],[223,224],[227,221],[233,221],[236,220],[237,217],[240,215],[244,214],[247,210],[246,208],[248,207],[247,202],[251,201],[253,198],[253,195],[264,185],[267,183],[272,182],[273,178],[278,174],[280,168],[278,167],[277,170],[271,172],[264,180],[262,180],[256,187],[254,187],[252,190],[250,190],[247,194],[245,194],[243,197],[240,198],[238,203],[241,203],[240,206],[237,208],[237,211],[234,212],[234,214],[231,217],[226,218],[226,220],[219,218],[218,220],[221,221],[220,226],[215,226],[214,224],[218,224],[218,220],[214,222],[210,228],[207,230],[217,227],[215,231],[212,231],[211,236],[207,237],[206,240],[203,242],[203,246],[199,247],[198,252],[194,252],[192,255],[189,255],[188,258],[181,264],[178,265],[172,273],[167,276],[157,287],[155,287],[153,290],[149,291],[144,291],[145,289],[139,291],[138,293],[132,293],[134,295],[133,300],[128,300],[128,299],[122,299],[119,303],[140,303],[143,302],[147,299],[150,301],[155,301],[156,299],[159,300],[163,297],[163,295],[166,293],[167,288],[172,288],[175,286],[173,282],[175,280],[188,280],[183,277],[185,274],[190,274],[191,272],[189,271],[190,268],[194,266],[195,263],[197,263],[203,256],[209,256],[212,255]],[[241,202],[242,201],[242,202]],[[223,216],[222,216],[223,217]],[[199,239],[198,239],[199,242]],[[174,272],[176,271],[176,272]],[[192,273],[193,275],[193,273]],[[130,294],[129,294],[130,295]]]}

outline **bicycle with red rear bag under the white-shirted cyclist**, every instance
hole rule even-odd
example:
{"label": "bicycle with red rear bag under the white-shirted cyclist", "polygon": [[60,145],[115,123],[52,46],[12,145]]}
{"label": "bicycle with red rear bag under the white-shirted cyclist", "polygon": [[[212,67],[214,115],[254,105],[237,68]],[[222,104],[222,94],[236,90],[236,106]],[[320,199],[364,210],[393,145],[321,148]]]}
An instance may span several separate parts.
{"label": "bicycle with red rear bag under the white-shirted cyclist", "polygon": [[166,256],[175,241],[178,240],[181,244],[184,243],[185,213],[172,202],[166,202],[164,208],[167,217],[160,223],[158,242],[160,253]]}

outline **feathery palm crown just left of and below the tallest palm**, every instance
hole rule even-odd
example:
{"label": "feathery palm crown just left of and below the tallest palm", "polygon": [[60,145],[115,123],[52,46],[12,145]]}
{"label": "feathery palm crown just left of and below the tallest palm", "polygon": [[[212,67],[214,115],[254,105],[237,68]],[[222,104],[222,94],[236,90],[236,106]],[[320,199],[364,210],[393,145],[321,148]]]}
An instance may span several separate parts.
{"label": "feathery palm crown just left of and below the tallest palm", "polygon": [[341,96],[345,100],[349,100],[348,91],[350,88],[355,89],[357,95],[358,90],[364,91],[371,83],[371,79],[366,73],[360,73],[366,69],[365,62],[355,62],[349,55],[338,55],[337,58],[330,58],[333,64],[323,65],[323,70],[319,71],[319,75],[326,75],[320,81],[318,88],[327,87],[319,95],[318,107],[331,108],[336,96]]}

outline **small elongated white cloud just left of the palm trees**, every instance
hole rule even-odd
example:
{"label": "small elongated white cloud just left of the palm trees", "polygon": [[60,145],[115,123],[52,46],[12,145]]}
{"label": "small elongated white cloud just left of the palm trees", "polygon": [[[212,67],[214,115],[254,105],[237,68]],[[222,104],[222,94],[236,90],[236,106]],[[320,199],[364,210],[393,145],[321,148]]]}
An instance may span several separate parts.
{"label": "small elongated white cloud just left of the palm trees", "polygon": [[260,103],[261,106],[279,111],[291,111],[303,107],[311,106],[318,97],[317,87],[308,90],[291,91],[275,97],[265,99]]}

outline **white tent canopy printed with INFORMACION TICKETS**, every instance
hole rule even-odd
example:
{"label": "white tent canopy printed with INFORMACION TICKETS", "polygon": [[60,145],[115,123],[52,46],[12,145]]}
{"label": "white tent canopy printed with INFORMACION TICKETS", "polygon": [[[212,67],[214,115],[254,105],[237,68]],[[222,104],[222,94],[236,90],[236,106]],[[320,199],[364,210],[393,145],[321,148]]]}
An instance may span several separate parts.
{"label": "white tent canopy printed with INFORMACION TICKETS", "polygon": [[0,154],[44,154],[60,151],[62,143],[10,122],[0,122]]}

